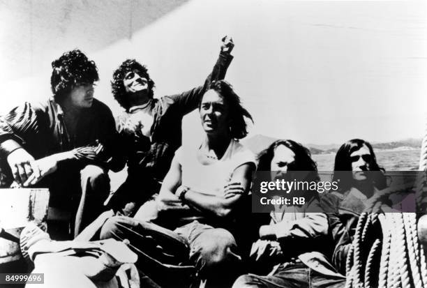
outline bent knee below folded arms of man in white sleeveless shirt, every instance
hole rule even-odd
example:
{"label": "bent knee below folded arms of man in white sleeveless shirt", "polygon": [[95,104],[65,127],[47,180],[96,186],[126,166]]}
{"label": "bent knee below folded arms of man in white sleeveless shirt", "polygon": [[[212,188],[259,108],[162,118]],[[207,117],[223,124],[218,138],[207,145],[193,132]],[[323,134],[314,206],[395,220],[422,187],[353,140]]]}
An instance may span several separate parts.
{"label": "bent knee below folded arms of man in white sleeveless shirt", "polygon": [[241,257],[235,253],[237,244],[234,237],[225,229],[204,232],[197,238],[197,242],[200,245],[196,245],[190,253],[195,253],[197,258],[202,260],[204,264],[202,266],[225,268],[227,265],[223,264],[237,264],[241,260]]}

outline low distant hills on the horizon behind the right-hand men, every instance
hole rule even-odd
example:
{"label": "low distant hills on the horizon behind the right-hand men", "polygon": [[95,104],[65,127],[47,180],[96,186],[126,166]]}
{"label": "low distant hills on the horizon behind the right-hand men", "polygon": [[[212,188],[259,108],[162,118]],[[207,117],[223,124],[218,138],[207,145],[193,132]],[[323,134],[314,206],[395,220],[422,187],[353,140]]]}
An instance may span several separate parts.
{"label": "low distant hills on the horizon behind the right-hand men", "polygon": [[[266,149],[276,140],[277,138],[258,134],[250,137],[249,139],[244,139],[242,143],[244,143],[251,151],[257,154]],[[421,147],[421,139],[410,138],[394,142],[371,142],[371,144],[375,150],[412,150],[419,149]],[[336,153],[338,148],[340,148],[340,145],[341,144],[304,144],[304,146],[310,149],[310,152],[313,155]]]}

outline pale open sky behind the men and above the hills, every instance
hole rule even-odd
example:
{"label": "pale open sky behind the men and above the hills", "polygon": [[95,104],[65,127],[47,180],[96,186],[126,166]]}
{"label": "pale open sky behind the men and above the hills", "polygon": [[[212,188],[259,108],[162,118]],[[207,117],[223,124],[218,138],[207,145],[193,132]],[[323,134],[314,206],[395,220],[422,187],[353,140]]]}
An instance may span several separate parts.
{"label": "pale open sky behind the men and above the hills", "polygon": [[[426,12],[425,1],[0,1],[0,113],[49,96],[50,62],[75,47],[97,63],[96,97],[114,114],[110,79],[127,58],[147,64],[156,97],[186,91],[204,82],[227,34],[226,79],[253,115],[250,135],[421,138]],[[183,135],[200,141],[197,112]]]}

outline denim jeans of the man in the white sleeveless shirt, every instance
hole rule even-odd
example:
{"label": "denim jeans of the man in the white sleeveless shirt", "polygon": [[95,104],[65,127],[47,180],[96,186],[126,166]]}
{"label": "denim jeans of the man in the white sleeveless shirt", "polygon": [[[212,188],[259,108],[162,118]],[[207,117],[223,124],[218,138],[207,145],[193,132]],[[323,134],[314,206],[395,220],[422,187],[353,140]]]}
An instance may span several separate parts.
{"label": "denim jeans of the man in the white sleeveless shirt", "polygon": [[[237,244],[234,237],[226,229],[214,228],[197,221],[183,225],[173,232],[156,226],[135,218],[115,216],[105,222],[100,232],[100,238],[116,238],[122,241],[128,239],[130,247],[139,257],[136,264],[137,268],[150,276],[151,280],[160,286],[177,287],[177,285],[182,285],[182,282],[178,280],[181,277],[179,270],[177,270],[181,264],[195,266],[195,269],[193,268],[195,280],[206,280],[206,287],[230,287],[239,275],[241,257],[237,255]],[[155,230],[162,232],[163,236],[153,233]],[[182,255],[183,249],[176,245],[177,241],[170,242],[171,245],[176,245],[177,249],[166,247],[167,241],[163,240],[167,237],[183,239],[189,248],[186,251],[187,255]],[[148,250],[151,249],[149,248],[150,239],[154,244],[161,245],[163,251],[162,255],[154,253],[158,257],[152,261],[147,258],[147,255],[150,254]],[[151,247],[153,246],[151,245]],[[147,260],[152,264],[147,265]],[[156,263],[163,261],[167,263],[160,263],[156,266]],[[169,264],[174,265],[174,268],[168,270]],[[182,273],[188,273],[188,271],[182,269]]]}

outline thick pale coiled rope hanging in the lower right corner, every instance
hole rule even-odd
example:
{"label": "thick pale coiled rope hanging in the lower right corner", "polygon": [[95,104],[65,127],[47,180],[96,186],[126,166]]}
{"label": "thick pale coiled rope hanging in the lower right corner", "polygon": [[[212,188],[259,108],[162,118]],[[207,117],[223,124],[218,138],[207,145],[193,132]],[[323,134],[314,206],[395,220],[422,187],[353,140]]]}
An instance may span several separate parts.
{"label": "thick pale coiled rope hanging in the lower right corner", "polygon": [[352,247],[345,287],[427,287],[415,213],[362,213]]}

